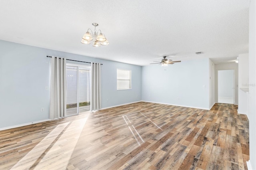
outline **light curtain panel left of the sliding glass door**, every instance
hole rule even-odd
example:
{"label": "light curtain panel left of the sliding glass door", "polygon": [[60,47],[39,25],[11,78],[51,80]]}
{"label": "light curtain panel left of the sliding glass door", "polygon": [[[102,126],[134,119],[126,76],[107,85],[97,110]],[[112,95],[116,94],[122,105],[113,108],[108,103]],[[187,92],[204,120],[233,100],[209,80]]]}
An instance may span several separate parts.
{"label": "light curtain panel left of the sliding glass door", "polygon": [[66,58],[59,59],[52,56],[49,119],[66,116],[66,84]]}

